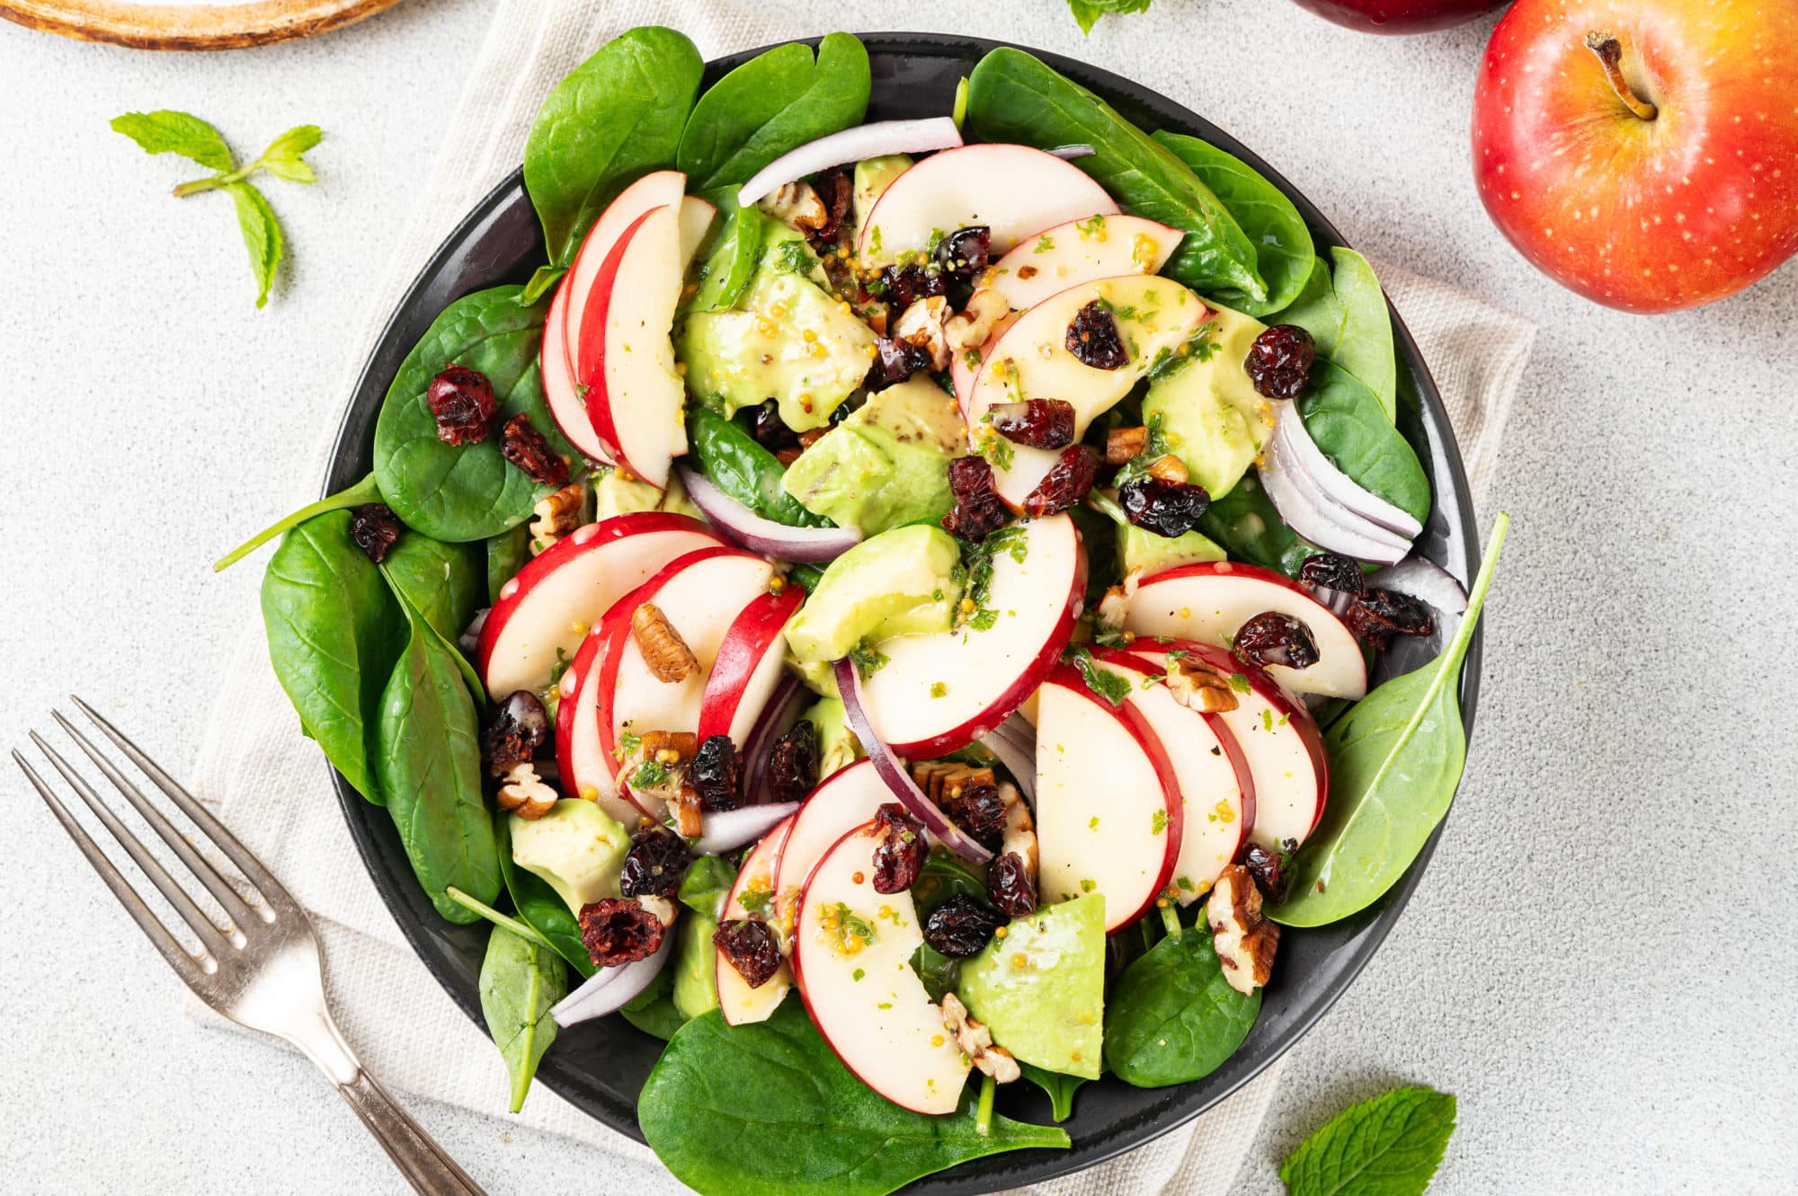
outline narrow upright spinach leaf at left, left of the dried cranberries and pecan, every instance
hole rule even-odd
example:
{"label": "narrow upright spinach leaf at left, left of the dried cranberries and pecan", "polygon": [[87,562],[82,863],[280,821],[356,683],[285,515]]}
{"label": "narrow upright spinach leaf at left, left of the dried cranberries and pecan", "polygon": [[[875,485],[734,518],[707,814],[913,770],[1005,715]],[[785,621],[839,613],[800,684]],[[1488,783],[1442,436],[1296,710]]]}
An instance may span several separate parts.
{"label": "narrow upright spinach leaf at left, left of the dried cranberries and pecan", "polygon": [[444,889],[491,905],[503,885],[475,736],[475,699],[460,670],[423,620],[414,621],[381,695],[374,772],[419,885],[457,923],[480,914]]}

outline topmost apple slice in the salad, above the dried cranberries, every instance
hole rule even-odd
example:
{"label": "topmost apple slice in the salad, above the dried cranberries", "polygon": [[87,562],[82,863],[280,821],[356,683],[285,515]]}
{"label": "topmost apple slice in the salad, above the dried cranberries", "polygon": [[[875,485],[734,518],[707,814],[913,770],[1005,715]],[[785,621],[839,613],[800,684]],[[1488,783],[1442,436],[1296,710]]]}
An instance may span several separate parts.
{"label": "topmost apple slice in the salad, above the dried cranberries", "polygon": [[908,250],[924,250],[933,235],[985,224],[992,253],[1019,239],[1090,215],[1113,215],[1118,205],[1081,167],[1028,145],[962,145],[924,158],[895,178],[868,210],[858,253],[863,264],[886,264]]}

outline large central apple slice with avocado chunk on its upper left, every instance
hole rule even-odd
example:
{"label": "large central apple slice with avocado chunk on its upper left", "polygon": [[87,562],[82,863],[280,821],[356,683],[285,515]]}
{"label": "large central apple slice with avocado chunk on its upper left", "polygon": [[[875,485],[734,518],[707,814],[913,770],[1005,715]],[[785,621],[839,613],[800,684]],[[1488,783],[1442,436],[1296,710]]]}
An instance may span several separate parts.
{"label": "large central apple slice with avocado chunk on its upper left", "polygon": [[931,760],[1005,722],[1073,632],[1086,593],[1081,533],[1066,515],[1018,524],[1014,548],[992,558],[987,630],[964,627],[881,641],[886,657],[861,686],[881,742],[906,760]]}

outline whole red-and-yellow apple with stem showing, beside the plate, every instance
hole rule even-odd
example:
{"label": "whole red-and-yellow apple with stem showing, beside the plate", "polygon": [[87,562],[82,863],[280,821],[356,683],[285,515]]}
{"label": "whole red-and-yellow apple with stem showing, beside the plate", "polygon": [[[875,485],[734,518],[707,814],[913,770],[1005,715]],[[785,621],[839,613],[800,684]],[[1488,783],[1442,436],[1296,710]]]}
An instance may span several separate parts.
{"label": "whole red-and-yellow apple with stem showing, beside the plate", "polygon": [[1473,169],[1548,277],[1696,307],[1798,250],[1794,0],[1518,0],[1492,32]]}

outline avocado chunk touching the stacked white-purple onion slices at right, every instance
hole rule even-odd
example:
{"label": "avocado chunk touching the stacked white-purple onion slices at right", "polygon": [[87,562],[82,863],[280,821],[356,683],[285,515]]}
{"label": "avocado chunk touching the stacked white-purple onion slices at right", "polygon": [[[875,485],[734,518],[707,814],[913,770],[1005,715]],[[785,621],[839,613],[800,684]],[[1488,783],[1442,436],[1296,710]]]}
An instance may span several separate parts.
{"label": "avocado chunk touching the stacked white-purple onion slices at right", "polygon": [[1208,350],[1154,381],[1142,400],[1144,420],[1162,417],[1174,456],[1214,499],[1230,494],[1273,435],[1268,400],[1242,368],[1268,325],[1228,307],[1215,311]]}

